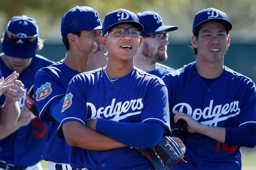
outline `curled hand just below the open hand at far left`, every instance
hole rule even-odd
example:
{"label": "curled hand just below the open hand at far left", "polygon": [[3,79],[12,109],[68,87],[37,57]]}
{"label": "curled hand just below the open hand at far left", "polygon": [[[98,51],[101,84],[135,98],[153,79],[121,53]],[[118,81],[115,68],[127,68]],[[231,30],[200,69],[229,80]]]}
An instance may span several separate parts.
{"label": "curled hand just below the open hand at far left", "polygon": [[24,94],[24,84],[20,80],[15,80],[14,83],[4,92],[8,102],[16,102],[22,98]]}

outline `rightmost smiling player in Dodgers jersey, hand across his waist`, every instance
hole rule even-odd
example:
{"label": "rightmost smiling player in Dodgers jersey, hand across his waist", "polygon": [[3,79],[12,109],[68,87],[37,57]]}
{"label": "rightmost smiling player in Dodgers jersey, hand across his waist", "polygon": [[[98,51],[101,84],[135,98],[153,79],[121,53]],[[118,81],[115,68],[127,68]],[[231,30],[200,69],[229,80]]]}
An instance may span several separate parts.
{"label": "rightmost smiling player in Dodgers jersey, hand across his waist", "polygon": [[174,170],[241,170],[240,147],[256,145],[256,88],[223,65],[232,28],[226,13],[208,8],[193,22],[196,62],[163,76],[174,122],[191,133],[183,140],[187,163]]}

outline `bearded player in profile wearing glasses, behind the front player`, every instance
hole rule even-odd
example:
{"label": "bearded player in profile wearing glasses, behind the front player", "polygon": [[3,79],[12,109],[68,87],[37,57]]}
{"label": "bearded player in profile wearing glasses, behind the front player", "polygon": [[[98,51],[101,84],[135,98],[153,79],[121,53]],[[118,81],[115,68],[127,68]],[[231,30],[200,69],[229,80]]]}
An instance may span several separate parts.
{"label": "bearded player in profile wearing glasses, behind the front player", "polygon": [[137,16],[144,29],[141,32],[143,42],[134,57],[134,66],[162,78],[174,70],[158,62],[167,59],[168,32],[178,27],[166,26],[161,16],[153,11],[138,13]]}

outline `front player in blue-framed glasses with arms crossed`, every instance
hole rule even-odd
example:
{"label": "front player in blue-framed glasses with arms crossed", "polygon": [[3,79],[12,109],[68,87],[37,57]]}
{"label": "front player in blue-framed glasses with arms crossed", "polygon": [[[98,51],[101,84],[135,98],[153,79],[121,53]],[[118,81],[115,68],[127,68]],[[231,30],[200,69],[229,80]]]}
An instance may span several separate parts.
{"label": "front player in blue-framed glasses with arms crossed", "polygon": [[58,135],[71,146],[71,167],[153,169],[132,147],[154,147],[170,132],[169,107],[162,80],[133,66],[142,30],[135,13],[108,13],[99,38],[108,64],[68,84]]}

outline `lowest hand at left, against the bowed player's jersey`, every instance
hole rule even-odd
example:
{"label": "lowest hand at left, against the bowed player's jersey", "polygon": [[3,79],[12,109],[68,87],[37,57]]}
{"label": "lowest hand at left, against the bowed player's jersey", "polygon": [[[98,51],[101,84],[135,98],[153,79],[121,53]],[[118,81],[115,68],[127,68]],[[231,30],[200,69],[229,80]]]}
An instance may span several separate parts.
{"label": "lowest hand at left, against the bowed player's jersey", "polygon": [[33,119],[33,113],[24,105],[20,110],[20,116],[17,120],[16,125],[19,127],[27,126]]}

